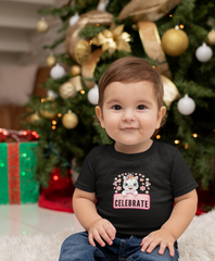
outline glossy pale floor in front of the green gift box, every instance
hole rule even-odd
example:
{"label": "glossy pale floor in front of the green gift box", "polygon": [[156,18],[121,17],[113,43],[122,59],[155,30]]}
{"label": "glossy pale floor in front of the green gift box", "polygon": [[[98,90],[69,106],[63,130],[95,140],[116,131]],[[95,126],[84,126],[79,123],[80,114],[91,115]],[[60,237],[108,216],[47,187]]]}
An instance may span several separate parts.
{"label": "glossy pale floor in front of the green gift box", "polygon": [[38,204],[0,204],[0,236],[51,235],[64,228],[83,229],[75,214]]}

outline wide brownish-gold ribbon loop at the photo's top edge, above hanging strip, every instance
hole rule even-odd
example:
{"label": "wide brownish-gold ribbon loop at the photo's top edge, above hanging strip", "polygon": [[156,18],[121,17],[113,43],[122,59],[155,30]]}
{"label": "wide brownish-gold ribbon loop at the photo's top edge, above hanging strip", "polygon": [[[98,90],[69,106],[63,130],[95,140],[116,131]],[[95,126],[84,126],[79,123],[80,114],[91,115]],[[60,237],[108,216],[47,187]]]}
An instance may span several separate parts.
{"label": "wide brownish-gold ribbon loop at the photo's top edge, above hanging strip", "polygon": [[130,16],[135,22],[157,21],[182,1],[184,0],[131,0],[121,11],[118,20],[121,21]]}

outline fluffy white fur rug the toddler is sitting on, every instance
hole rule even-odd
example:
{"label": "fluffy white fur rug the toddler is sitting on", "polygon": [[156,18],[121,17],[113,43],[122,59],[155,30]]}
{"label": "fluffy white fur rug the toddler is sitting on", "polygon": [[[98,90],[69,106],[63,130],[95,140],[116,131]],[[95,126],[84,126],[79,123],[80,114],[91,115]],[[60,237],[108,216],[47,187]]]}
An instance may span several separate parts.
{"label": "fluffy white fur rug the toddler is sitting on", "polygon": [[[51,236],[0,236],[0,261],[58,261],[63,240],[77,231]],[[215,209],[194,216],[179,238],[180,261],[215,261]]]}

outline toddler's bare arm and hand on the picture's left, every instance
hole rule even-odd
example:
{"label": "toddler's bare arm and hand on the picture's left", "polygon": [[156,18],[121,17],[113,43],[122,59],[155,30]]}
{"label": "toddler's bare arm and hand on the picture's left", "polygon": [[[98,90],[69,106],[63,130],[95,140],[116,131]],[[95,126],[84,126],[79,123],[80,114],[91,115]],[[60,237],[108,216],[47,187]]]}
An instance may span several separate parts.
{"label": "toddler's bare arm and hand on the picture's left", "polygon": [[88,231],[89,244],[96,246],[96,239],[102,247],[105,246],[104,241],[112,245],[116,229],[111,222],[102,219],[98,214],[94,202],[94,192],[86,192],[78,188],[75,189],[73,195],[73,208],[78,221],[84,228]]}

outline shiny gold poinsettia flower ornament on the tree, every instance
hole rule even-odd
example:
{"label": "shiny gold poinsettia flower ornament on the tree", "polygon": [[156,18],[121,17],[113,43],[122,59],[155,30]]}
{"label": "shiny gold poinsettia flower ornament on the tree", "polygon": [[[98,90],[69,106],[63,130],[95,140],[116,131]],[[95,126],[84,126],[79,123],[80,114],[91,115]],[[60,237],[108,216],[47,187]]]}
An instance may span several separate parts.
{"label": "shiny gold poinsettia flower ornament on the tree", "polygon": [[97,46],[102,46],[102,51],[109,50],[110,54],[113,54],[115,50],[131,52],[130,35],[123,32],[124,25],[115,27],[114,24],[111,25],[110,29],[104,29],[99,33],[98,36],[92,38],[92,44]]}

